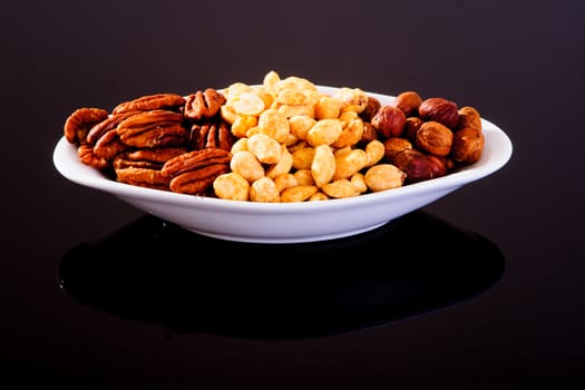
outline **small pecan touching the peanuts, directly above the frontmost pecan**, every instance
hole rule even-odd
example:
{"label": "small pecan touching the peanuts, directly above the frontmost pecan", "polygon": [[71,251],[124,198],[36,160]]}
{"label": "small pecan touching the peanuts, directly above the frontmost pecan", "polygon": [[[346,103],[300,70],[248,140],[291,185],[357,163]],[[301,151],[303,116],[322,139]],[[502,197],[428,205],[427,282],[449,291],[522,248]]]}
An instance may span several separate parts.
{"label": "small pecan touching the peanuts, directly above the frontmost pecan", "polygon": [[215,120],[194,124],[191,127],[188,145],[194,150],[207,147],[231,150],[235,142],[230,125],[224,120]]}

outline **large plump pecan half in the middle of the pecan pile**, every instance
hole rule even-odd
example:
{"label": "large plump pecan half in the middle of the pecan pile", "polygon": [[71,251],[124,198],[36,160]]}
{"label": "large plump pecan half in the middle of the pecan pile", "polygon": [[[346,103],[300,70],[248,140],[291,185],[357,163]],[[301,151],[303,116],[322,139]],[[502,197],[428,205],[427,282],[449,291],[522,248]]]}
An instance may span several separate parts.
{"label": "large plump pecan half in the middle of the pecan pile", "polygon": [[187,140],[183,115],[156,109],[133,115],[118,124],[124,144],[135,147],[179,146]]}

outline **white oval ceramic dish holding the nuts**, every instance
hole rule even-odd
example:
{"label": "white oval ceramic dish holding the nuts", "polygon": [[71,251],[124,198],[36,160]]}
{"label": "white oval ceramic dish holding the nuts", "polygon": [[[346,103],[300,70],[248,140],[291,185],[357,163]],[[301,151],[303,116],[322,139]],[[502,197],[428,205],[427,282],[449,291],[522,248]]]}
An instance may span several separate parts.
{"label": "white oval ceramic dish holding the nuts", "polygon": [[[319,86],[333,92],[337,88]],[[368,92],[389,104],[393,97]],[[384,192],[302,203],[225,201],[145,188],[107,178],[79,160],[62,137],[53,152],[57,170],[69,181],[121,198],[133,206],[206,236],[255,243],[298,243],[347,237],[371,231],[501,168],[511,157],[508,136],[482,120],[481,158],[460,172]]]}

